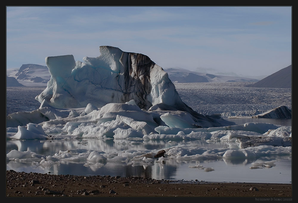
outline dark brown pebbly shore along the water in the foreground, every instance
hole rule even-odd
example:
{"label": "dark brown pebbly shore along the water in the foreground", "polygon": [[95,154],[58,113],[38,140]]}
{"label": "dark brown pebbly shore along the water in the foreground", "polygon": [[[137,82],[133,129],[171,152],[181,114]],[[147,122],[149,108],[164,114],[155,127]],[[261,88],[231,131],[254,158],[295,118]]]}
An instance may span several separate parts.
{"label": "dark brown pebbly shore along the water in the foreground", "polygon": [[142,177],[52,175],[10,170],[6,171],[6,196],[253,197],[254,201],[274,197],[275,201],[284,201],[292,200],[292,185],[198,181],[181,183]]}

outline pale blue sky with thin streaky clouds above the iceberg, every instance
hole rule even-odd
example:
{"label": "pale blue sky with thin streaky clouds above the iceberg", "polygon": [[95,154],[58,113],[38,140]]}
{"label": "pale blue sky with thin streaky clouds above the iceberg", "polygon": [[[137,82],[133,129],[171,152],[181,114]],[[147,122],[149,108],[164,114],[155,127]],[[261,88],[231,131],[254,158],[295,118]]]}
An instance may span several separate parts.
{"label": "pale blue sky with thin streaky clouds above the iceberg", "polygon": [[292,60],[291,7],[6,7],[6,65],[97,57],[109,45],[162,68],[258,76]]}

